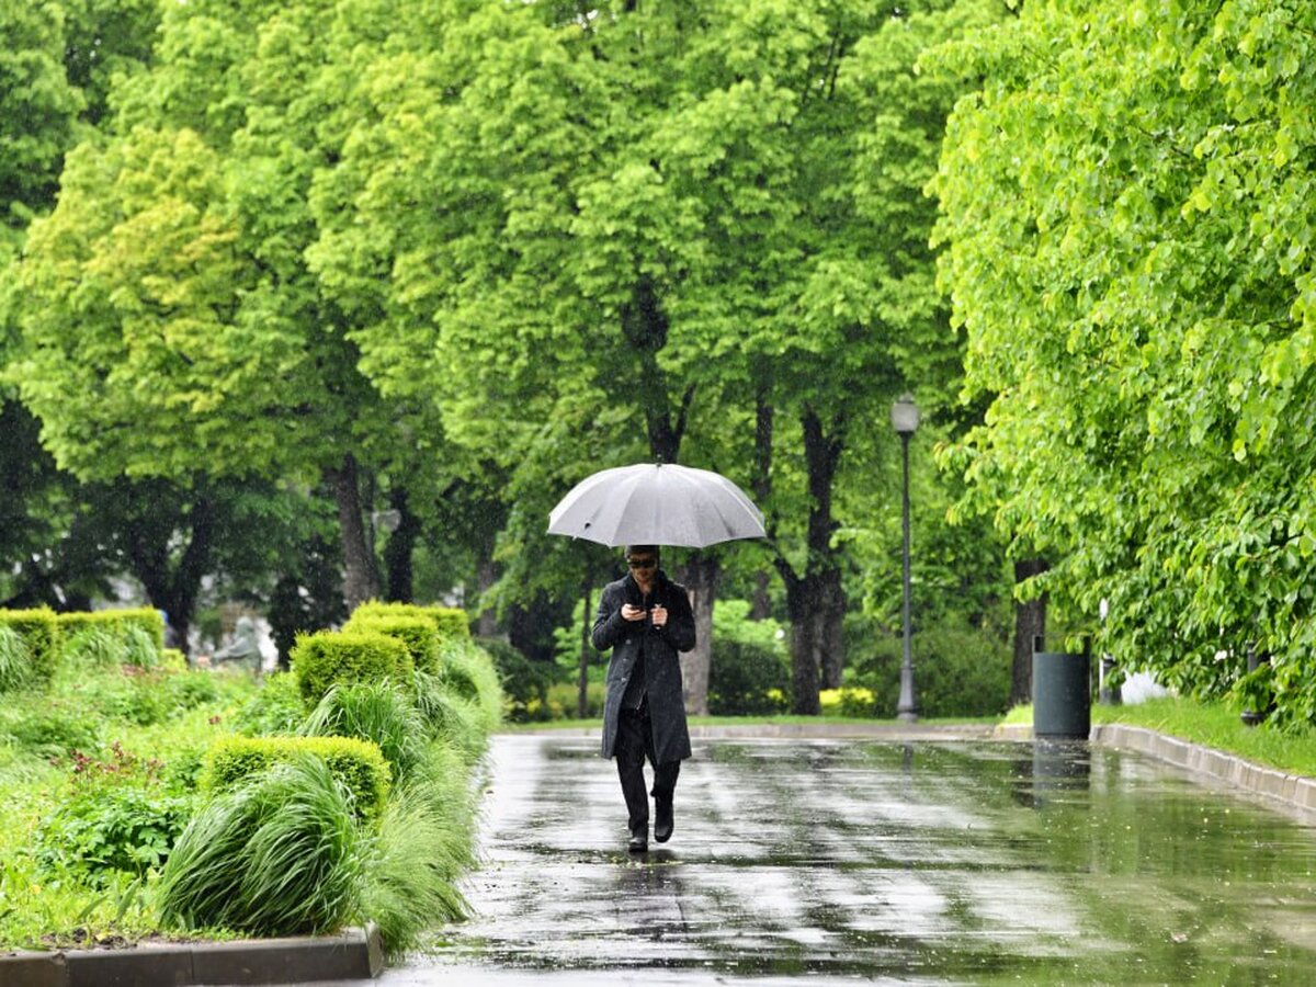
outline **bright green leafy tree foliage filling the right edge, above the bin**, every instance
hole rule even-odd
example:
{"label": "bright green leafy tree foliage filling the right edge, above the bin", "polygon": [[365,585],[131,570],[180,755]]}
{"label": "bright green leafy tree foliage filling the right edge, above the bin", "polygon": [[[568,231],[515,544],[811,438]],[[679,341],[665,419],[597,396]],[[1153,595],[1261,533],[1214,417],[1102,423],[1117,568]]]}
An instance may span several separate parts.
{"label": "bright green leafy tree foliage filling the right edge, above the bin", "polygon": [[1130,669],[1219,696],[1257,641],[1295,726],[1316,715],[1313,38],[1290,0],[1024,4],[932,66],[982,80],[933,183],[990,401],[944,457],[961,511],[1045,553],[1032,591]]}

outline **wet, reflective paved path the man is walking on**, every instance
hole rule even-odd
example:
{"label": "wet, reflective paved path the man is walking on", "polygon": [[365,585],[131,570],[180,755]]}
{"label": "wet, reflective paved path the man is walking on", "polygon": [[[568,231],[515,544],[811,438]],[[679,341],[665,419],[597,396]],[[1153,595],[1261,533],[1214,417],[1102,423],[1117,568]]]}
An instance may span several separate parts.
{"label": "wet, reflective paved path the man is walking on", "polygon": [[596,738],[491,767],[475,916],[378,983],[1316,980],[1316,820],[1137,754],[696,741],[634,857]]}

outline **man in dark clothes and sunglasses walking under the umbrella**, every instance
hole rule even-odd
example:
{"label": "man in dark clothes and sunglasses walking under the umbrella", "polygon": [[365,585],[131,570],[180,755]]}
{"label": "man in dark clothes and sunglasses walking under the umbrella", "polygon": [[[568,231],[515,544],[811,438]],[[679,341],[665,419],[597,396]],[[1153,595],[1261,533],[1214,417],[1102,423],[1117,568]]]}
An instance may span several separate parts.
{"label": "man in dark clothes and sunglasses walking under the umbrella", "polygon": [[594,646],[613,649],[603,707],[603,757],[617,759],[629,813],[632,853],[649,849],[645,758],[654,770],[654,840],[671,838],[672,794],[690,757],[690,729],[678,651],[695,646],[695,615],[686,587],[658,569],[658,547],[626,549],[630,570],[604,587],[594,620]]}

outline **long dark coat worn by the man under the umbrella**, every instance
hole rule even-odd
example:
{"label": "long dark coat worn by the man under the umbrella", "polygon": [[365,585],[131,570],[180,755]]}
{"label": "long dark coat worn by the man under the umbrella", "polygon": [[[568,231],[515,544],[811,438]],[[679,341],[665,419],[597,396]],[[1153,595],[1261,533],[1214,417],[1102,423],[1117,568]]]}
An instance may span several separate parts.
{"label": "long dark coat worn by the man under the umbrella", "polygon": [[[655,628],[647,616],[634,622],[622,620],[624,603],[644,609],[662,604],[667,608],[666,626]],[[613,649],[608,662],[608,695],[603,705],[603,755],[611,758],[615,753],[621,697],[642,651],[654,755],[658,763],[688,758],[690,730],[686,726],[680,659],[676,657],[678,651],[695,646],[695,615],[690,609],[686,587],[671,582],[661,570],[647,597],[630,575],[608,583],[594,619],[594,646],[600,651]]]}

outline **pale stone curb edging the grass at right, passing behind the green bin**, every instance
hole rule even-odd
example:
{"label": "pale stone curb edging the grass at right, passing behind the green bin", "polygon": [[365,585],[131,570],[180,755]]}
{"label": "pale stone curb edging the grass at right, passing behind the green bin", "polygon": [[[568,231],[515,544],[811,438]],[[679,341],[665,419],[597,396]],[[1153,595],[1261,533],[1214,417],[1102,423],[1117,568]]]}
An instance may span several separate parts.
{"label": "pale stone curb edging the grass at right, passing behind the green bin", "polygon": [[[1029,724],[1001,725],[996,728],[994,736],[999,740],[1028,741],[1033,738],[1033,728]],[[1190,744],[1145,726],[1119,722],[1092,724],[1088,741],[1146,754],[1254,795],[1263,795],[1305,812],[1316,812],[1316,778],[1284,774],[1234,754]]]}

